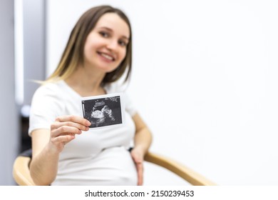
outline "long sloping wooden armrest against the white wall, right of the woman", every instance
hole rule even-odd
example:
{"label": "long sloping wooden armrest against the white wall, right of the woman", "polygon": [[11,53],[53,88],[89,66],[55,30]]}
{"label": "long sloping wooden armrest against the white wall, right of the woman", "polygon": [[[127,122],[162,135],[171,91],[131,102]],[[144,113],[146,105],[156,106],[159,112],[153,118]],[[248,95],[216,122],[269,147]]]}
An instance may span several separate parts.
{"label": "long sloping wooden armrest against the white wall, right of the woman", "polygon": [[197,174],[197,172],[189,169],[187,166],[184,166],[173,159],[169,159],[165,156],[160,156],[148,152],[145,154],[145,161],[148,161],[159,166],[163,166],[165,169],[172,171],[177,176],[180,176],[185,181],[189,182],[194,186],[215,186],[216,184],[212,181],[206,179],[204,176]]}

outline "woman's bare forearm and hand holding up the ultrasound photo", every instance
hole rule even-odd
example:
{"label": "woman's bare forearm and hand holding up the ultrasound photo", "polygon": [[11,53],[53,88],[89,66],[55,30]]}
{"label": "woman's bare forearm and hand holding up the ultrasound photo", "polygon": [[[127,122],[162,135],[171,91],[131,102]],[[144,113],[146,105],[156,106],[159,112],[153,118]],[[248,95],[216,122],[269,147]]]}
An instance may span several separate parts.
{"label": "woman's bare forearm and hand holding up the ultrasound photo", "polygon": [[51,130],[32,131],[31,177],[37,185],[50,185],[58,170],[59,154],[63,147],[75,139],[75,134],[88,131],[91,123],[80,116],[59,116]]}

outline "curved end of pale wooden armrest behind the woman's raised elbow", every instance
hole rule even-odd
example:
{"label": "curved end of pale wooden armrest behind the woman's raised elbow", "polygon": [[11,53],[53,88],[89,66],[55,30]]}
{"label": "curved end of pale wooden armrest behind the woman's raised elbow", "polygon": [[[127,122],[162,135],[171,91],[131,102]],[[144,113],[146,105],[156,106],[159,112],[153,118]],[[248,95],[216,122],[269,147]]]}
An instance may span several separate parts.
{"label": "curved end of pale wooden armrest behind the woman's raised elbow", "polygon": [[13,176],[14,180],[20,186],[34,186],[34,181],[31,178],[29,171],[30,157],[18,156],[14,161]]}

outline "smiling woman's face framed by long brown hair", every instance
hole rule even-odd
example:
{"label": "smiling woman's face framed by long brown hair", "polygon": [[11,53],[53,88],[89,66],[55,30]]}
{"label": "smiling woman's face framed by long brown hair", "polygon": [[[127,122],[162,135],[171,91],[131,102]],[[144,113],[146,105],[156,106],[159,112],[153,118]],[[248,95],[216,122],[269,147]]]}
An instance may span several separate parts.
{"label": "smiling woman's face framed by long brown hair", "polygon": [[129,37],[128,24],[118,14],[104,14],[86,39],[85,66],[104,73],[115,70],[125,59]]}

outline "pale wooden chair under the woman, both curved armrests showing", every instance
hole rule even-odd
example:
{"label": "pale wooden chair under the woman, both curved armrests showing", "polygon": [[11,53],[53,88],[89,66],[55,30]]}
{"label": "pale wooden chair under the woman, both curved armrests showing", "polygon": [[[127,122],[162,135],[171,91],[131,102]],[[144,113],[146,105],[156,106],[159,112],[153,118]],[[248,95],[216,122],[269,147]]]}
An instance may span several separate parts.
{"label": "pale wooden chair under the woman, both curved armrests showing", "polygon": [[[13,176],[14,180],[20,186],[34,186],[34,181],[31,178],[29,171],[29,164],[31,161],[31,149],[24,151],[16,157],[14,161]],[[204,176],[197,174],[197,172],[189,169],[187,166],[177,163],[172,159],[166,158],[158,154],[148,152],[145,155],[145,161],[148,161],[165,169],[172,171],[177,176],[185,179],[188,183],[195,186],[213,186],[216,185],[212,181],[206,179]]]}

